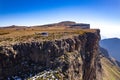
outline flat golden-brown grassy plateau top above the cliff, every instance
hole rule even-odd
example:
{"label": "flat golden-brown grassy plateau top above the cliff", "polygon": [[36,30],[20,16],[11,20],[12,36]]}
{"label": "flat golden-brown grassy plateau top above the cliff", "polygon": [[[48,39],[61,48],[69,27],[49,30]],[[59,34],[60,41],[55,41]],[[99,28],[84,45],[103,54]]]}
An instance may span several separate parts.
{"label": "flat golden-brown grassy plateau top above the cliff", "polygon": [[[44,41],[70,38],[85,32],[96,32],[96,29],[74,29],[66,27],[14,27],[0,28],[0,45],[28,41]],[[47,33],[43,35],[42,33]]]}

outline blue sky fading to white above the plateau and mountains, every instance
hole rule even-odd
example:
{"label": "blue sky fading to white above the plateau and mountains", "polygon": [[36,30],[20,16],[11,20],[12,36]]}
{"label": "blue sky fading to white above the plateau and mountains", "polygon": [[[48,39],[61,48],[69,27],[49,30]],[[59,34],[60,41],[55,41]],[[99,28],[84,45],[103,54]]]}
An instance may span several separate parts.
{"label": "blue sky fading to white above the plateau and mountains", "polygon": [[120,38],[120,0],[0,0],[0,26],[89,23],[102,38]]}

